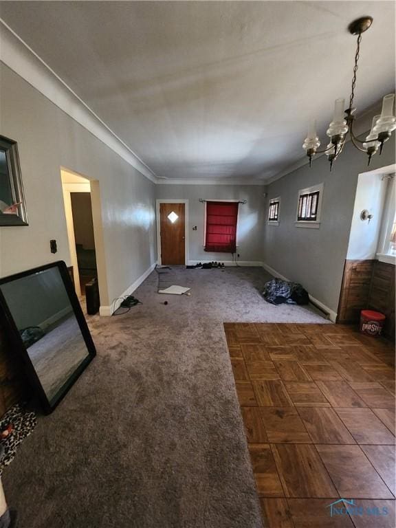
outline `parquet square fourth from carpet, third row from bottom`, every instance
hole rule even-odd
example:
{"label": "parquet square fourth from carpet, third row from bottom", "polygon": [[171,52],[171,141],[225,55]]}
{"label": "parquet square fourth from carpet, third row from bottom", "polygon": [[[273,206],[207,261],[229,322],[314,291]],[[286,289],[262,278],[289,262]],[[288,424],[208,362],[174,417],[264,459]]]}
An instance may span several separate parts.
{"label": "parquet square fourth from carpet, third row from bottom", "polygon": [[358,443],[391,445],[395,437],[371,409],[336,408],[338,416]]}

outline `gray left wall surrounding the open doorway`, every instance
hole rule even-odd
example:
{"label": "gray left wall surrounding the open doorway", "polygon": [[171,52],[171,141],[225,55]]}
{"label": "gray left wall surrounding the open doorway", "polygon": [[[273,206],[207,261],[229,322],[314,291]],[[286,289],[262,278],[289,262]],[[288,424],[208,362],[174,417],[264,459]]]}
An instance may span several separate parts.
{"label": "gray left wall surrounding the open doorway", "polygon": [[[0,63],[0,133],[18,142],[28,227],[0,228],[0,275],[69,265],[61,166],[100,185],[108,298],[156,260],[155,184]],[[58,253],[50,252],[50,239]],[[102,294],[102,292],[101,292]]]}

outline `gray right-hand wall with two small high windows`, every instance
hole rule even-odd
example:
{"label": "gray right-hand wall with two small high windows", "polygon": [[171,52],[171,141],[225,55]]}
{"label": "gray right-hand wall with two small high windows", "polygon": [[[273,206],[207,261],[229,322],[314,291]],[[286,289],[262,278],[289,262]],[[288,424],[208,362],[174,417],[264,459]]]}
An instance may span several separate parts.
{"label": "gray right-hand wall with two small high windows", "polygon": [[[384,152],[371,162],[371,169],[395,163],[395,143],[390,140]],[[309,293],[337,311],[347,257],[359,173],[368,170],[364,153],[351,143],[329,172],[327,157],[315,159],[267,186],[267,207],[271,198],[281,197],[281,221],[266,225],[263,261],[291,281],[302,283]],[[319,229],[296,228],[298,190],[324,183],[322,217]]]}

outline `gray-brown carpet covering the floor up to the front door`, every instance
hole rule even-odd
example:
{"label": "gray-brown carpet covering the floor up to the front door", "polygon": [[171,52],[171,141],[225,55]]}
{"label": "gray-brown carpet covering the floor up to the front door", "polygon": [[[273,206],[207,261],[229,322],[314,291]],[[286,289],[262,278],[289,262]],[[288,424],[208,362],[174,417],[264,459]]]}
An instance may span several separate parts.
{"label": "gray-brown carpet covering the floor up to the front door", "polygon": [[222,322],[325,320],[265,303],[259,268],[172,273],[190,296],[153,272],[89,318],[98,357],[3,474],[19,528],[261,527]]}

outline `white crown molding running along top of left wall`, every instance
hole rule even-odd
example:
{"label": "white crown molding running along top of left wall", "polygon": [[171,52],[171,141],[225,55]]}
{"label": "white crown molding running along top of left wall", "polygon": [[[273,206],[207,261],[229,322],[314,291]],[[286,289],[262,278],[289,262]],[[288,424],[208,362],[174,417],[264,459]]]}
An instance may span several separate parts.
{"label": "white crown molding running along top of left wall", "polygon": [[91,132],[153,183],[157,175],[59,77],[32,48],[0,18],[0,61],[25,79],[69,117]]}

